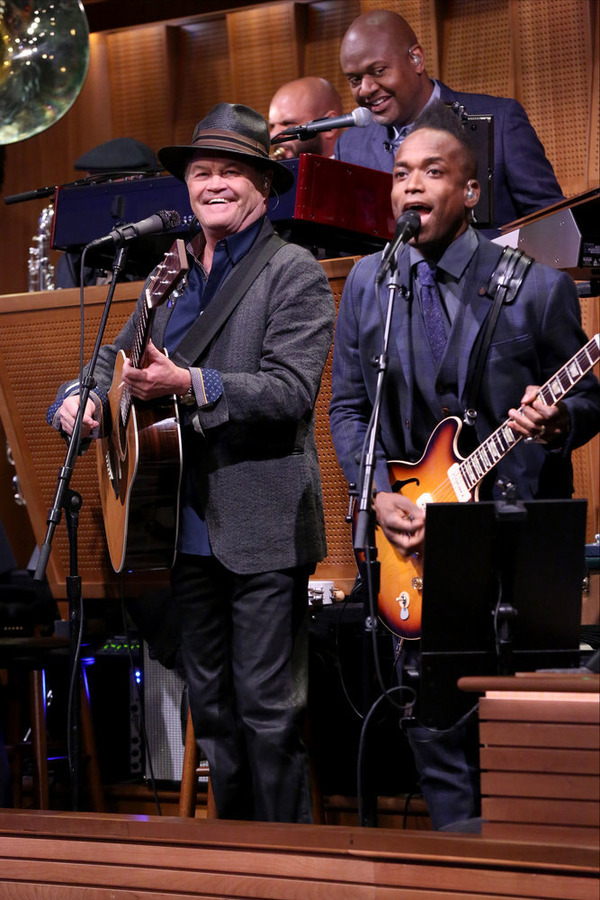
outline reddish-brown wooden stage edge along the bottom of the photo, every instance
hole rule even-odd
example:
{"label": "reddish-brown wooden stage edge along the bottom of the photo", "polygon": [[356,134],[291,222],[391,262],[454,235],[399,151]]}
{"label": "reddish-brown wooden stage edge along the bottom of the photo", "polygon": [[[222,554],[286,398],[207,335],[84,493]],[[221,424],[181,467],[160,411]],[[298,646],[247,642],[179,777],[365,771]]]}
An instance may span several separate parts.
{"label": "reddish-brown wooden stage edge along the bottom of the photo", "polygon": [[597,900],[598,875],[593,847],[0,810],[2,900]]}

